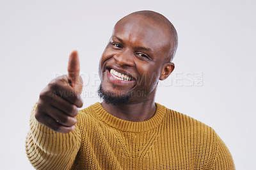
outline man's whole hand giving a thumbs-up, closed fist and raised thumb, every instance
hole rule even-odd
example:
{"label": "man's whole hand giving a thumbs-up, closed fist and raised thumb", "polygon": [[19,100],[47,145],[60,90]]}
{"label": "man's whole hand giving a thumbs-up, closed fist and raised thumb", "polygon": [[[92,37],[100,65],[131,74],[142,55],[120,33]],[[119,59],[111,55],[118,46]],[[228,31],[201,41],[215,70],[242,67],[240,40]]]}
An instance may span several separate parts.
{"label": "man's whole hand giving a thumbs-up, closed fist and raised thumb", "polygon": [[80,97],[83,80],[79,75],[80,66],[77,51],[68,61],[68,75],[53,79],[40,93],[35,118],[48,128],[60,133],[74,130],[78,108],[83,106]]}

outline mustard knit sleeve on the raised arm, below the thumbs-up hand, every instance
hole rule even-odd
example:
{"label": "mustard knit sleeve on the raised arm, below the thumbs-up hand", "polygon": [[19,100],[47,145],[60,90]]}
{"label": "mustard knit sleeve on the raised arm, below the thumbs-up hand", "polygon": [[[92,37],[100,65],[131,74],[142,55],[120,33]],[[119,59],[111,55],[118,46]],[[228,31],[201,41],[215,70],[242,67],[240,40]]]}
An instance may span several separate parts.
{"label": "mustard knit sleeve on the raised arm, below the thumbs-up hand", "polygon": [[[35,119],[36,105],[30,116],[26,137],[26,153],[35,169],[70,169],[81,145],[81,134],[76,125],[68,134],[54,132]],[[78,121],[78,119],[77,119]]]}

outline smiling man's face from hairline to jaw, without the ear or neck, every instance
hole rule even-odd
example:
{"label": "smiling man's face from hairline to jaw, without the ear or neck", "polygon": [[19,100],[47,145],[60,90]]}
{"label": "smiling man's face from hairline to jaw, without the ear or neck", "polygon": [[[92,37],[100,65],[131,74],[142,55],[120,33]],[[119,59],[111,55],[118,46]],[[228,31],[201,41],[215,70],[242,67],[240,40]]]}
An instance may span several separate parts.
{"label": "smiling man's face from hairline to jaw, without the ear or neck", "polygon": [[157,82],[170,52],[168,29],[140,15],[120,20],[102,54],[101,88],[129,102],[154,98]]}

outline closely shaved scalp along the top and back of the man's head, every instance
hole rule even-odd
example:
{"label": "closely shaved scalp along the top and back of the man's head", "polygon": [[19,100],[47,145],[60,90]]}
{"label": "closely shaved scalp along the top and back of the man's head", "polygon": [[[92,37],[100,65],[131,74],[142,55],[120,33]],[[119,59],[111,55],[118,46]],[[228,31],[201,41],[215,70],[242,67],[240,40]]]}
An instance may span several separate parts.
{"label": "closely shaved scalp along the top and back of the man's head", "polygon": [[[168,32],[169,36],[166,38],[168,38],[168,42],[170,42],[170,49],[169,49],[170,52],[169,52],[169,55],[166,56],[166,60],[172,61],[178,46],[178,36],[177,36],[177,31],[173,26],[173,24],[170,22],[170,20],[166,19],[166,17],[164,17],[160,13],[145,10],[145,11],[131,13],[125,16],[124,18],[118,20],[118,22],[125,19],[126,17],[134,17],[136,15],[140,17],[145,17],[145,19],[154,20],[154,23],[159,24],[159,26],[163,27],[163,29],[165,29]],[[118,22],[116,22],[116,24],[118,24]]]}

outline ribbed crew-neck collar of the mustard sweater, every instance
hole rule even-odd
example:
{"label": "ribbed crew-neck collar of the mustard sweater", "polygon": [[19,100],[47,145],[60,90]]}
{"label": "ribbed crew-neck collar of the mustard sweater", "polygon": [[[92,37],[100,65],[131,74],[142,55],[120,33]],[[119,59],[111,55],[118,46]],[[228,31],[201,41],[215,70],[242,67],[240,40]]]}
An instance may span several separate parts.
{"label": "ribbed crew-neck collar of the mustard sweater", "polygon": [[156,113],[150,120],[134,122],[116,118],[112,114],[109,114],[99,102],[93,104],[92,108],[95,116],[97,116],[99,120],[122,132],[145,132],[156,128],[163,120],[164,114],[166,114],[166,107],[156,103]]}

